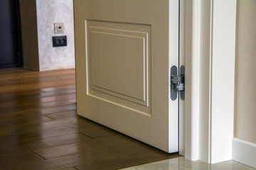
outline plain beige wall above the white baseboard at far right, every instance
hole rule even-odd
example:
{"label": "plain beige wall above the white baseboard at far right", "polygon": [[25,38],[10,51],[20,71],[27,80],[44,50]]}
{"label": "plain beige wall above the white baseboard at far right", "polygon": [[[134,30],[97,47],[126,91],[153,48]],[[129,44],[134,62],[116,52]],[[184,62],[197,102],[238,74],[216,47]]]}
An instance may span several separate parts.
{"label": "plain beige wall above the white baseboard at far right", "polygon": [[[252,143],[256,143],[255,9],[255,0],[238,0],[235,67],[235,137]],[[225,84],[225,86],[228,88],[228,84]]]}

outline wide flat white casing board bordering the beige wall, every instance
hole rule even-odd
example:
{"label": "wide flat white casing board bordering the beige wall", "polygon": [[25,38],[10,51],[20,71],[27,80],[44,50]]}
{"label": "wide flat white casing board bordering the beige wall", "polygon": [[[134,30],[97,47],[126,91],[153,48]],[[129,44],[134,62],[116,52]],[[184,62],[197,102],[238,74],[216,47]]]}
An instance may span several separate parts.
{"label": "wide flat white casing board bordering the beige wall", "polygon": [[213,1],[210,163],[232,159],[236,1]]}

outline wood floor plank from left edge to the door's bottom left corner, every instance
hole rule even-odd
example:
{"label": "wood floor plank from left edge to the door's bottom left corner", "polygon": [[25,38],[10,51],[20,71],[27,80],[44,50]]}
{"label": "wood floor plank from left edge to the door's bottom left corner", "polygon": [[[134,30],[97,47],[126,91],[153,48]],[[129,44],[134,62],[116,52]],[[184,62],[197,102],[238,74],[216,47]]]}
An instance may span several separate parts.
{"label": "wood floor plank from left edge to the door's bottom left corner", "polygon": [[[67,123],[67,124],[65,124]],[[6,144],[5,141],[11,143],[21,143],[40,140],[46,137],[65,135],[74,132],[85,130],[95,130],[102,127],[97,123],[92,123],[90,120],[85,119],[61,119],[56,121],[49,121],[46,124],[37,123],[23,123],[20,125],[11,125],[0,129],[0,147]],[[1,142],[3,141],[3,143]]]}

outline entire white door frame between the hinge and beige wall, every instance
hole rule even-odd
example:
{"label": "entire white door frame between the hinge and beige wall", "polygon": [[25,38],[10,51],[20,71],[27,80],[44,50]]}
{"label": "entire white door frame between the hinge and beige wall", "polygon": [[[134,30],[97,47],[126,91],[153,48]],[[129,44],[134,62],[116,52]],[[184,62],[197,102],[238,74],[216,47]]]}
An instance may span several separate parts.
{"label": "entire white door frame between the hinge and beige wall", "polygon": [[180,154],[210,164],[227,161],[232,159],[236,0],[181,0],[181,8],[186,9],[181,10],[186,101]]}

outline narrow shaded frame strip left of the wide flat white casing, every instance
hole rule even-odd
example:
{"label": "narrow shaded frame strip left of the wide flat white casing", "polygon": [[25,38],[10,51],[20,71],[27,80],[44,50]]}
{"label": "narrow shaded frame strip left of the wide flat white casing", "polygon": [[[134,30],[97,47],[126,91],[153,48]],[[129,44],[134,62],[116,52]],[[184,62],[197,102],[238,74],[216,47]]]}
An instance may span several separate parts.
{"label": "narrow shaded frame strip left of the wide flat white casing", "polygon": [[199,159],[210,162],[213,1],[201,1]]}

